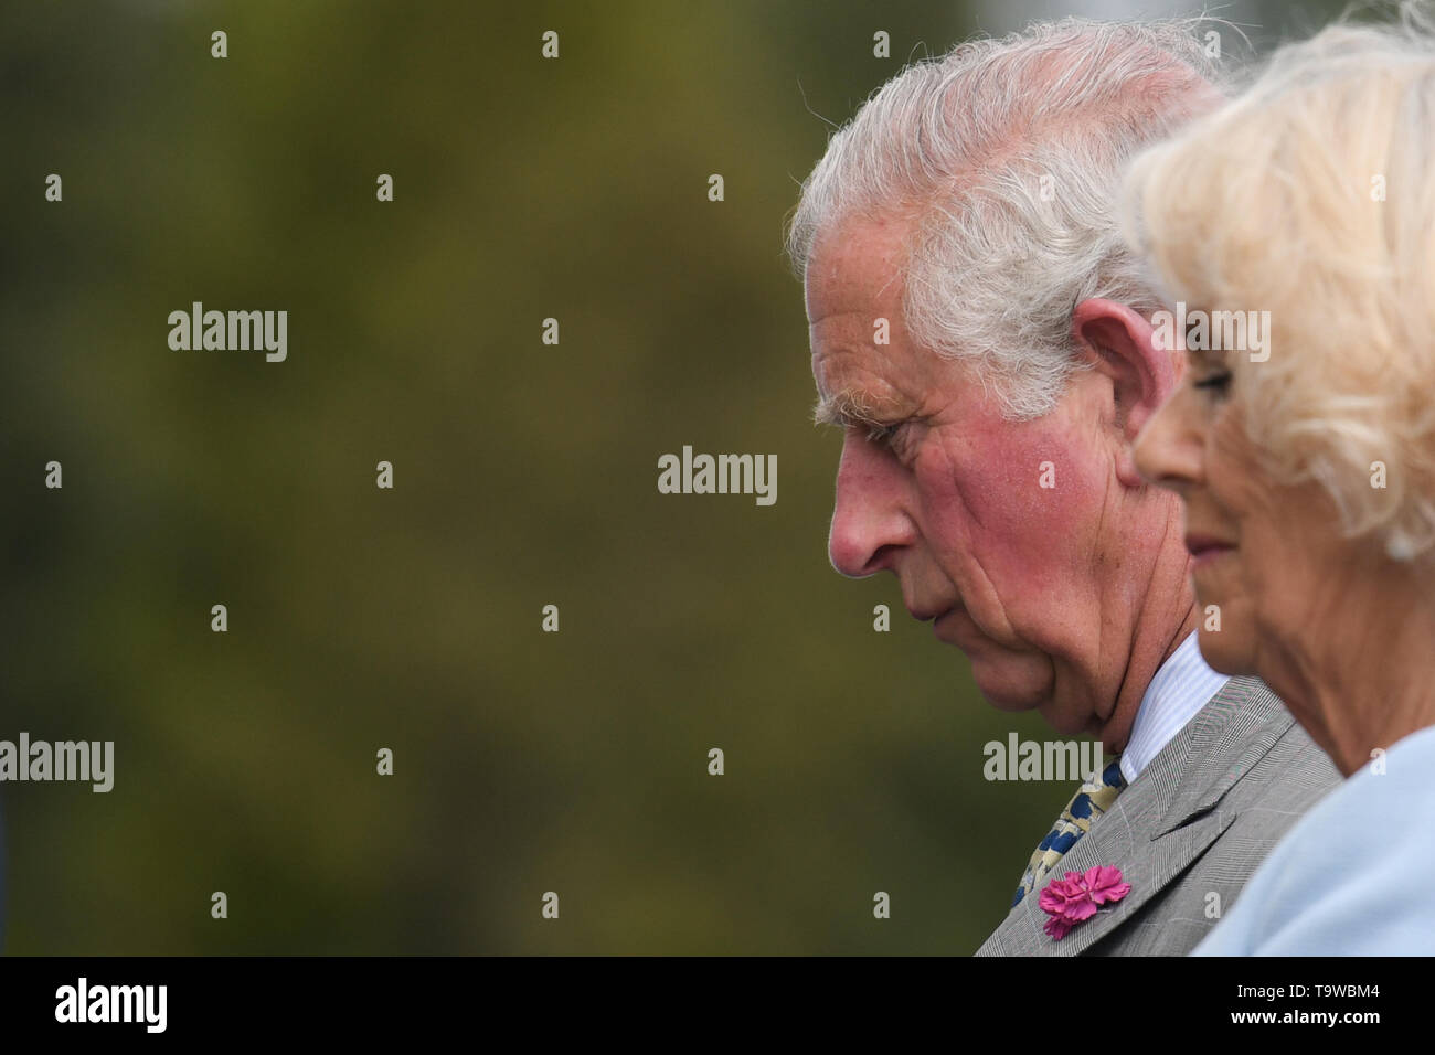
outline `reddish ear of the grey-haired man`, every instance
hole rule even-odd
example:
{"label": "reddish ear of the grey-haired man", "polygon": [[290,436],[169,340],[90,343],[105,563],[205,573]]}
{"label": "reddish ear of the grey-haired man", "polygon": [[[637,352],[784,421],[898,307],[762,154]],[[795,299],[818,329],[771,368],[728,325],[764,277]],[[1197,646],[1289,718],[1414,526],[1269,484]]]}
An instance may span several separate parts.
{"label": "reddish ear of the grey-haired man", "polygon": [[[1079,355],[1111,379],[1116,426],[1129,446],[1175,390],[1175,359],[1155,346],[1145,316],[1115,300],[1093,297],[1079,303],[1072,311],[1072,340]],[[1131,475],[1139,479],[1134,465]]]}

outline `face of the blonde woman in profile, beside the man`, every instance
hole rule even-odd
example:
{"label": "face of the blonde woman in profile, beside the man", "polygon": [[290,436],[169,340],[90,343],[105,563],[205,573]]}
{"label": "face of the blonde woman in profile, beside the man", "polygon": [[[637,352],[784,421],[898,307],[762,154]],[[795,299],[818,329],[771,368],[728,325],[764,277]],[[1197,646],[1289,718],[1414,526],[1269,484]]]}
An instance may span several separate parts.
{"label": "face of the blonde woman in profile, beside the man", "polygon": [[1220,356],[1188,353],[1181,388],[1135,444],[1141,472],[1184,500],[1201,655],[1231,675],[1256,673],[1319,613],[1337,617],[1349,568],[1323,489],[1277,487],[1261,468],[1234,385]]}

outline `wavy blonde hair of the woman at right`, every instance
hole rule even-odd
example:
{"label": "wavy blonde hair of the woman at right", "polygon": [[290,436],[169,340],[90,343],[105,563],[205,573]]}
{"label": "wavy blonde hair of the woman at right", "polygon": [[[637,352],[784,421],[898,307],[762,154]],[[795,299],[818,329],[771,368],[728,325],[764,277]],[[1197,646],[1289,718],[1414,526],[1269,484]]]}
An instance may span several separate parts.
{"label": "wavy blonde hair of the woman at right", "polygon": [[1281,47],[1240,98],[1137,158],[1122,212],[1171,303],[1270,311],[1266,362],[1224,355],[1271,475],[1319,481],[1343,533],[1396,560],[1431,550],[1429,9]]}

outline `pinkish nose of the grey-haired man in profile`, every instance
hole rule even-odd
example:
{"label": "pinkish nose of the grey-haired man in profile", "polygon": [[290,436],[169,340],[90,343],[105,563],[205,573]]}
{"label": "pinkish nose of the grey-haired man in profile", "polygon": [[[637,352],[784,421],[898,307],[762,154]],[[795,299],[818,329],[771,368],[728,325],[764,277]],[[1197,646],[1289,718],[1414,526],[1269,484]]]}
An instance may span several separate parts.
{"label": "pinkish nose of the grey-haired man in profile", "polygon": [[897,554],[916,541],[904,510],[901,474],[891,455],[848,429],[837,466],[837,502],[827,540],[832,567],[850,578],[895,570]]}

